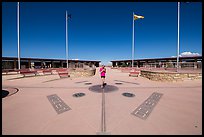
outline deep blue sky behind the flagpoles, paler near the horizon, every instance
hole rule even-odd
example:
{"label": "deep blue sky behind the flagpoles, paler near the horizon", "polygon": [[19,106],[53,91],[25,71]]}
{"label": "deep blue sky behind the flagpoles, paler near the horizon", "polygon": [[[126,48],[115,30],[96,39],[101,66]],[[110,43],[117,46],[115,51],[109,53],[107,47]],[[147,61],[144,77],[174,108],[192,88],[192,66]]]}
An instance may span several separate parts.
{"label": "deep blue sky behind the flagpoles, paler near the horizon", "polygon": [[[134,59],[177,56],[177,2],[20,2],[20,57]],[[202,55],[202,3],[181,3],[180,53]],[[2,56],[17,57],[17,2],[2,2]]]}

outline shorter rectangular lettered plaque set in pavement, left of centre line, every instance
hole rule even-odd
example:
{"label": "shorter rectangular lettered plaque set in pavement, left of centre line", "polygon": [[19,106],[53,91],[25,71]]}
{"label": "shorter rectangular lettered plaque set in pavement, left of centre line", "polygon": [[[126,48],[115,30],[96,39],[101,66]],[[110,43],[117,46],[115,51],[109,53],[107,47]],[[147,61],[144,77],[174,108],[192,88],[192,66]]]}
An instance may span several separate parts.
{"label": "shorter rectangular lettered plaque set in pavement, left of centre line", "polygon": [[47,96],[53,108],[58,114],[71,110],[71,108],[57,94]]}

